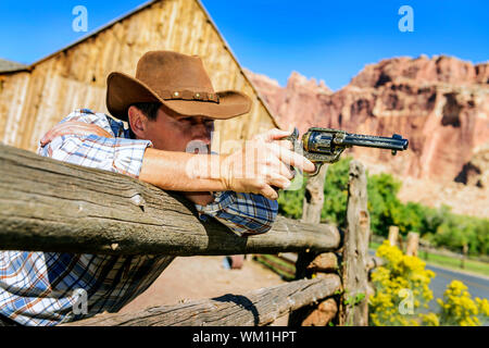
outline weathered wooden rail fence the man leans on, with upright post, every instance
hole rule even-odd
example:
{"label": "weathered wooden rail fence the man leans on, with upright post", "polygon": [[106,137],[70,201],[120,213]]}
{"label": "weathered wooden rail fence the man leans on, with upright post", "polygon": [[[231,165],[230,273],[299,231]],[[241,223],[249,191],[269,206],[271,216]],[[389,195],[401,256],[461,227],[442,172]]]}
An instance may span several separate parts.
{"label": "weathered wooden rail fence the man leans on, with upright post", "polygon": [[[279,216],[239,237],[202,223],[192,203],[131,177],[0,145],[0,249],[101,254],[226,256],[298,252],[297,279],[243,295],[96,315],[71,325],[366,325],[366,177],[350,166],[348,227]],[[304,257],[305,256],[305,257]]]}

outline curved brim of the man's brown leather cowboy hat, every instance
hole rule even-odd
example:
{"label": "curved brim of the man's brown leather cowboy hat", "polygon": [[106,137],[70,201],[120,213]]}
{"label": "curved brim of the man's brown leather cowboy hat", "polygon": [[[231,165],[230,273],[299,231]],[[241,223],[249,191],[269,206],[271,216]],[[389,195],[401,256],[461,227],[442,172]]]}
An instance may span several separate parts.
{"label": "curved brim of the man's brown leather cowboy hat", "polygon": [[161,102],[171,110],[186,116],[203,115],[215,120],[227,120],[246,114],[251,109],[251,99],[236,90],[217,91],[220,102],[162,99],[145,83],[124,73],[111,73],[106,79],[106,108],[109,112],[127,122],[127,109],[138,102]]}

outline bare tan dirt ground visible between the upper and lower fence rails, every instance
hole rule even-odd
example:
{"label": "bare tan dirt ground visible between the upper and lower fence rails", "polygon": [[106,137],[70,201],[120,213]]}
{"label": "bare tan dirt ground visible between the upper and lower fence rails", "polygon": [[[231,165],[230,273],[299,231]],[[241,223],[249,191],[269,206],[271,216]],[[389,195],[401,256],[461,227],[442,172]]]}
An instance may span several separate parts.
{"label": "bare tan dirt ground visible between the upper and lower fence rails", "polygon": [[[213,298],[225,294],[242,295],[285,283],[279,275],[247,256],[240,270],[226,270],[224,257],[176,258],[158,279],[120,312],[148,307],[176,304],[183,300]],[[287,325],[287,315],[274,325]]]}

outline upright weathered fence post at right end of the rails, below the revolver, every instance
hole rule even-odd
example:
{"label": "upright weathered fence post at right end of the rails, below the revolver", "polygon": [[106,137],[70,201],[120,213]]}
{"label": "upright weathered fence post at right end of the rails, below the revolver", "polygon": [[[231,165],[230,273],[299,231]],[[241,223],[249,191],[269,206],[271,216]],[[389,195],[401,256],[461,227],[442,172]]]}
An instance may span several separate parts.
{"label": "upright weathered fence post at right end of the rails, below the revolver", "polygon": [[343,295],[340,303],[339,323],[343,325],[368,325],[368,235],[367,181],[365,166],[350,162],[348,189],[347,231],[344,233],[342,281]]}

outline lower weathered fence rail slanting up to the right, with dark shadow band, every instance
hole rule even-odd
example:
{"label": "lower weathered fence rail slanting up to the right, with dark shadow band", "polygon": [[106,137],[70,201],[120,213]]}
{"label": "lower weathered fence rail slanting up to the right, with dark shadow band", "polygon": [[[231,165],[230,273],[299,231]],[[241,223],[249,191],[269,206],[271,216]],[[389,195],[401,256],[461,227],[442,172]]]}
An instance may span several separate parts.
{"label": "lower weathered fence rail slanting up to the right, with dark shadow band", "polygon": [[338,275],[302,279],[244,295],[224,295],[183,304],[160,306],[136,313],[102,314],[66,326],[263,326],[311,302],[333,296],[341,287]]}

